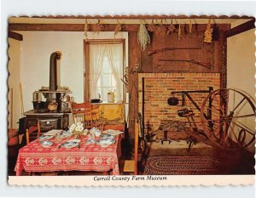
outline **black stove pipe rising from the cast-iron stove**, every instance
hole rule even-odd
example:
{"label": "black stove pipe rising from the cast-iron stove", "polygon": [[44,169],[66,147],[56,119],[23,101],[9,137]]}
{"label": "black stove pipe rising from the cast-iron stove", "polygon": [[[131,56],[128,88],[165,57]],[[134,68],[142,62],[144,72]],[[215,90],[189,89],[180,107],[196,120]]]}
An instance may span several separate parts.
{"label": "black stove pipe rising from the cast-iron stove", "polygon": [[54,92],[57,88],[57,59],[61,59],[61,52],[56,51],[49,59],[49,91]]}

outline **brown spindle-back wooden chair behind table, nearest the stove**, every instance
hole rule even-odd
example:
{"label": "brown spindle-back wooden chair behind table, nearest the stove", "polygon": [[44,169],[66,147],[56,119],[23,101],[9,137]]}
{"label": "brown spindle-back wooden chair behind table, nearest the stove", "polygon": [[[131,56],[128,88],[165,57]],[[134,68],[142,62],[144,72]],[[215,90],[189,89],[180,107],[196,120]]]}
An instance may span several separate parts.
{"label": "brown spindle-back wooden chair behind table, nearest the stove", "polygon": [[73,103],[71,105],[73,122],[82,122],[84,127],[92,127],[92,114],[90,103]]}

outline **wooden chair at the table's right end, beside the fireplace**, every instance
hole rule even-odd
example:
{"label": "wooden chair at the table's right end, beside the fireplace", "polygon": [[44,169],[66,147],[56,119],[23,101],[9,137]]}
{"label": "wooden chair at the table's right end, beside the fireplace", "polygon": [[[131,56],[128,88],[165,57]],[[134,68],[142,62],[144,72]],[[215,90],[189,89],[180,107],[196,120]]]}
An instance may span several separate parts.
{"label": "wooden chair at the table's right end, beside the fireplace", "polygon": [[137,151],[138,151],[138,123],[135,122],[134,128],[134,160],[125,160],[124,172],[133,172],[137,175]]}

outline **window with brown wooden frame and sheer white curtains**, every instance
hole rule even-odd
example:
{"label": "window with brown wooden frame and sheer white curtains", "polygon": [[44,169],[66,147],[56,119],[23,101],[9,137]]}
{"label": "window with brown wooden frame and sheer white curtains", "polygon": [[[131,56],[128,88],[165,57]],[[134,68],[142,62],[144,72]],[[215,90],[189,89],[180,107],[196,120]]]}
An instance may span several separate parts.
{"label": "window with brown wooden frame and sheer white curtains", "polygon": [[124,45],[122,40],[90,40],[85,46],[84,99],[101,99],[108,102],[108,93],[114,101],[123,101]]}

